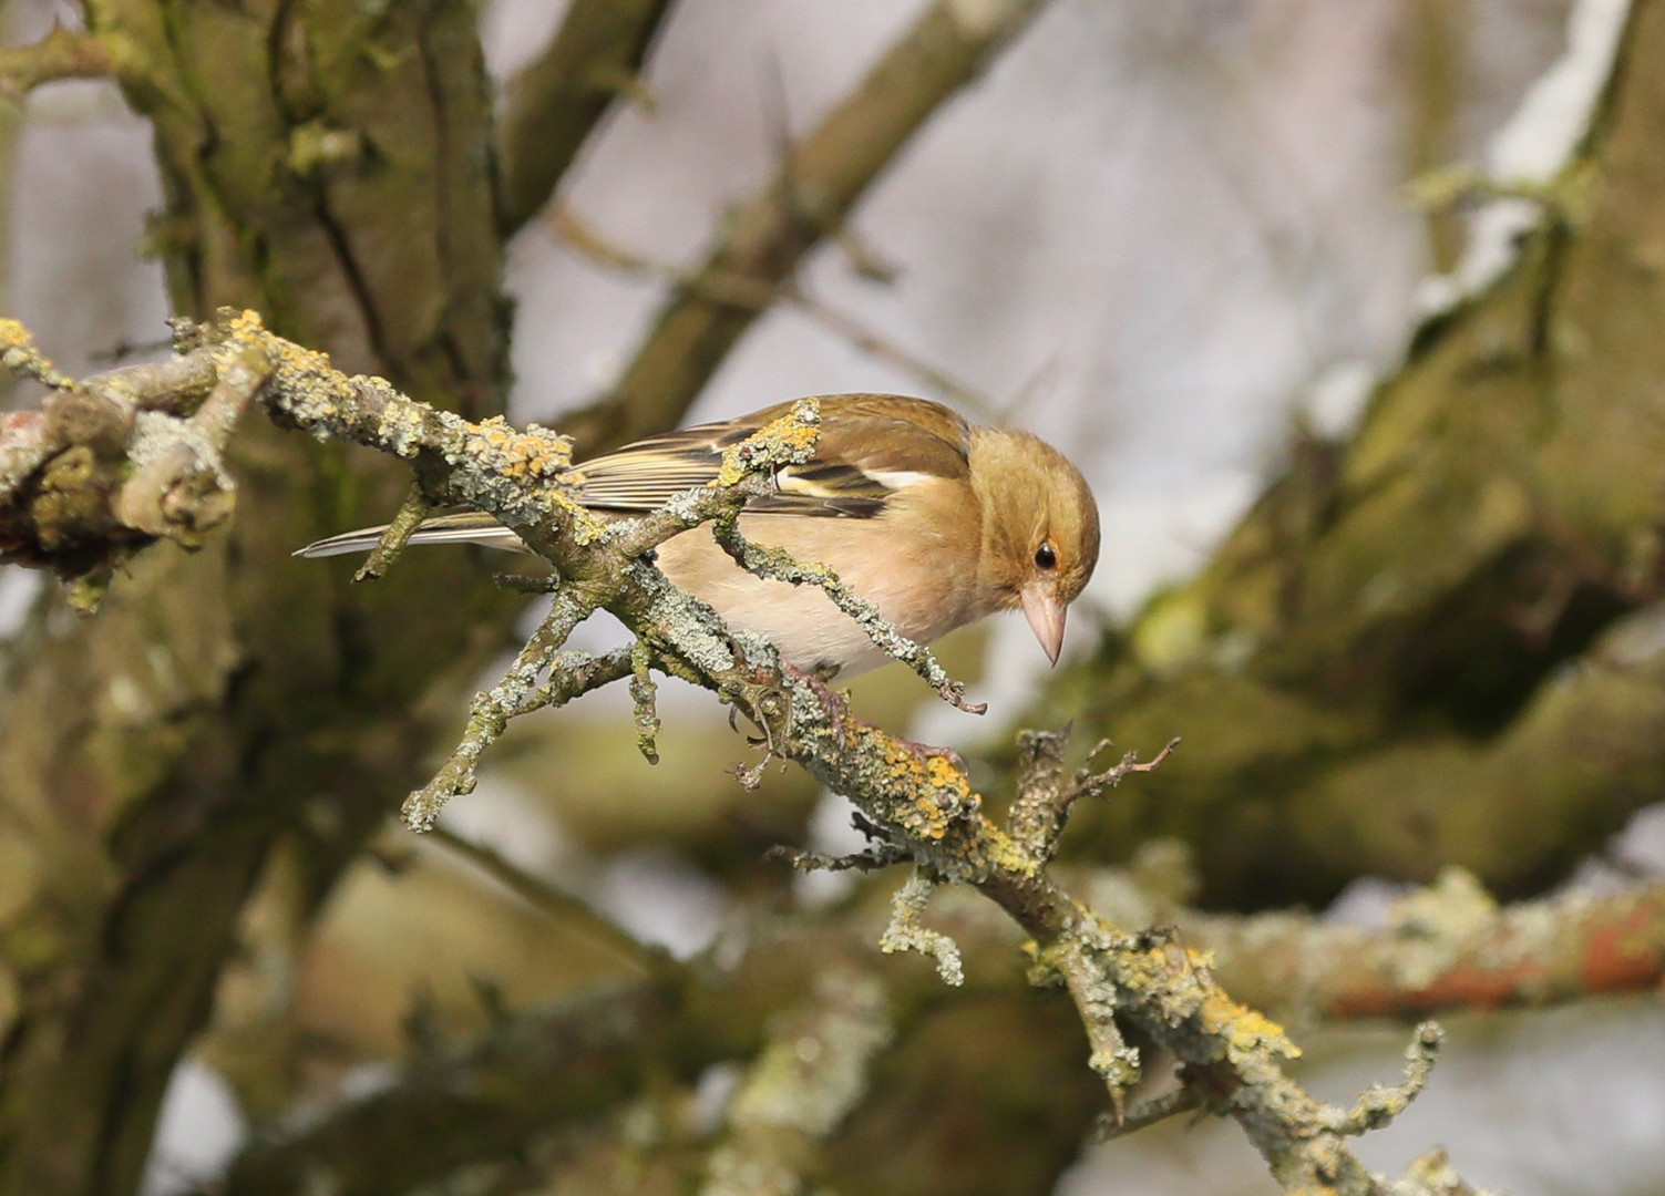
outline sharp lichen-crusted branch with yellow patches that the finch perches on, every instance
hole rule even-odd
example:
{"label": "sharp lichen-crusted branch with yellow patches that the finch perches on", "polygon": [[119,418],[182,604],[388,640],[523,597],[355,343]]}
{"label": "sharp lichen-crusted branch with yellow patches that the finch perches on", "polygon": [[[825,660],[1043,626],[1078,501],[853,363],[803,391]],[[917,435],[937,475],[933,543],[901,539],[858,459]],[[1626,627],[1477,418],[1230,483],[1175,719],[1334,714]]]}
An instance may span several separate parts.
{"label": "sharp lichen-crusted branch with yellow patches that the finch perches on", "polygon": [[[1034,940],[1037,975],[1052,975],[1069,990],[1092,1046],[1091,1065],[1117,1110],[1139,1066],[1122,1038],[1127,1026],[1175,1056],[1182,1080],[1199,1086],[1207,1108],[1239,1121],[1285,1188],[1334,1188],[1345,1196],[1385,1191],[1344,1138],[1382,1123],[1414,1086],[1370,1098],[1352,1113],[1314,1101],[1282,1070],[1280,1060],[1297,1053],[1294,1045],[1280,1028],[1232,1001],[1200,955],[1162,933],[1112,928],[1046,872],[1069,805],[1119,772],[1084,773],[1064,788],[1056,767],[1032,769],[1031,783],[1044,792],[1019,795],[1019,813],[1031,813],[1001,828],[982,813],[982,798],[956,754],[922,749],[856,719],[824,684],[783,667],[771,645],[731,635],[646,559],[669,536],[733,516],[768,474],[803,461],[816,437],[813,401],[729,449],[716,486],[689,491],[643,519],[608,526],[574,502],[564,481],[568,441],[546,429],[521,432],[501,419],[471,423],[415,403],[381,379],[346,378],[321,354],[266,333],[250,313],[226,313],[218,326],[193,329],[193,336],[203,348],[191,353],[228,354],[233,368],[255,349],[263,354],[270,374],[258,398],[276,423],[408,461],[426,496],[488,511],[554,566],[559,582],[548,619],[504,682],[476,699],[463,740],[435,782],[406,803],[415,828],[431,825],[445,798],[468,792],[480,752],[509,717],[534,702],[539,677],[558,667],[568,632],[604,607],[661,667],[734,705],[763,729],[773,754],[846,793],[879,837],[916,862],[919,892],[897,907],[899,938],[906,940],[897,945],[924,946],[946,976],[957,975],[957,951],[921,922],[927,880],[971,885],[1004,908]],[[631,664],[634,670],[634,659]],[[1056,757],[1056,749],[1046,754]],[[1122,772],[1134,767],[1129,760]],[[1051,813],[1042,817],[1044,810]],[[1432,1050],[1432,1040],[1420,1041]],[[1432,1191],[1405,1184],[1412,1181],[1402,1179],[1399,1191]]]}

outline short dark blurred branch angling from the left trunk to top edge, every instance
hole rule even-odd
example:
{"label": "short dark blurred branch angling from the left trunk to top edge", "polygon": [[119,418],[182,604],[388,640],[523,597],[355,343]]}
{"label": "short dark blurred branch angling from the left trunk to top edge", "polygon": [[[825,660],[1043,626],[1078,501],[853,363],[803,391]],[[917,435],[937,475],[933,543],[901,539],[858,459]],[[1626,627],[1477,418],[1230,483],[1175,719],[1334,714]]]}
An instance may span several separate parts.
{"label": "short dark blurred branch angling from the left trunk to top edge", "polygon": [[671,0],[574,0],[544,52],[509,80],[498,116],[504,236],[548,203],[619,98],[648,95],[643,63],[669,10]]}

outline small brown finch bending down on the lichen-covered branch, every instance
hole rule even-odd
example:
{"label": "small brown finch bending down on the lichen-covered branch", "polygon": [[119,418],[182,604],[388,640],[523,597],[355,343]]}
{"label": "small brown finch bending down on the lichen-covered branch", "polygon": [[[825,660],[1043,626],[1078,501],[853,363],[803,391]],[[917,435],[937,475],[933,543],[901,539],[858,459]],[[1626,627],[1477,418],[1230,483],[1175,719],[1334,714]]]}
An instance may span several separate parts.
{"label": "small brown finch bending down on the lichen-covered branch", "polygon": [[[931,399],[901,394],[818,396],[814,454],[774,472],[748,499],[741,534],[836,572],[909,639],[931,644],[999,610],[1022,610],[1047,659],[1099,559],[1099,509],[1081,471],[1041,437],[984,427]],[[573,466],[578,501],[629,517],[716,481],[724,449],[784,416],[791,403],[649,436]],[[308,544],[326,557],[375,547],[383,527]],[[521,549],[483,512],[426,519],[410,544]],[[756,577],[718,546],[711,527],[656,549],[664,576],[708,602],[738,632],[823,677],[847,677],[889,657],[816,586]]]}

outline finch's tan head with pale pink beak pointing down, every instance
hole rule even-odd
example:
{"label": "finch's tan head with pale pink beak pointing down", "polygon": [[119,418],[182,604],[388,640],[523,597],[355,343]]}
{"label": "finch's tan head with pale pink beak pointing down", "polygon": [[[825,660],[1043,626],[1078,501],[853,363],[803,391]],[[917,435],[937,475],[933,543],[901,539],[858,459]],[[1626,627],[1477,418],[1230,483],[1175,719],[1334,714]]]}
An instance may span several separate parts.
{"label": "finch's tan head with pale pink beak pointing down", "polygon": [[1046,441],[1006,427],[976,431],[971,479],[982,506],[982,591],[997,609],[1021,607],[1057,664],[1064,614],[1099,562],[1087,479]]}

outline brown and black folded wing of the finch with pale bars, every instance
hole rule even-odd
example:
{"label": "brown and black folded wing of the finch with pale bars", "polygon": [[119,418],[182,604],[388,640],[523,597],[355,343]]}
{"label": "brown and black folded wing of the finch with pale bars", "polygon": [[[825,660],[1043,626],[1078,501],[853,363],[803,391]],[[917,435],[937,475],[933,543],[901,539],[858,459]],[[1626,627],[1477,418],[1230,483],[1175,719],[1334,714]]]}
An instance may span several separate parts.
{"label": "brown and black folded wing of the finch with pale bars", "polygon": [[[693,486],[709,486],[723,452],[789,411],[789,403],[719,424],[636,441],[576,467],[581,501],[599,511],[651,511]],[[814,456],[776,474],[773,494],[748,512],[871,517],[902,486],[966,477],[971,429],[939,403],[894,394],[821,399]]]}

